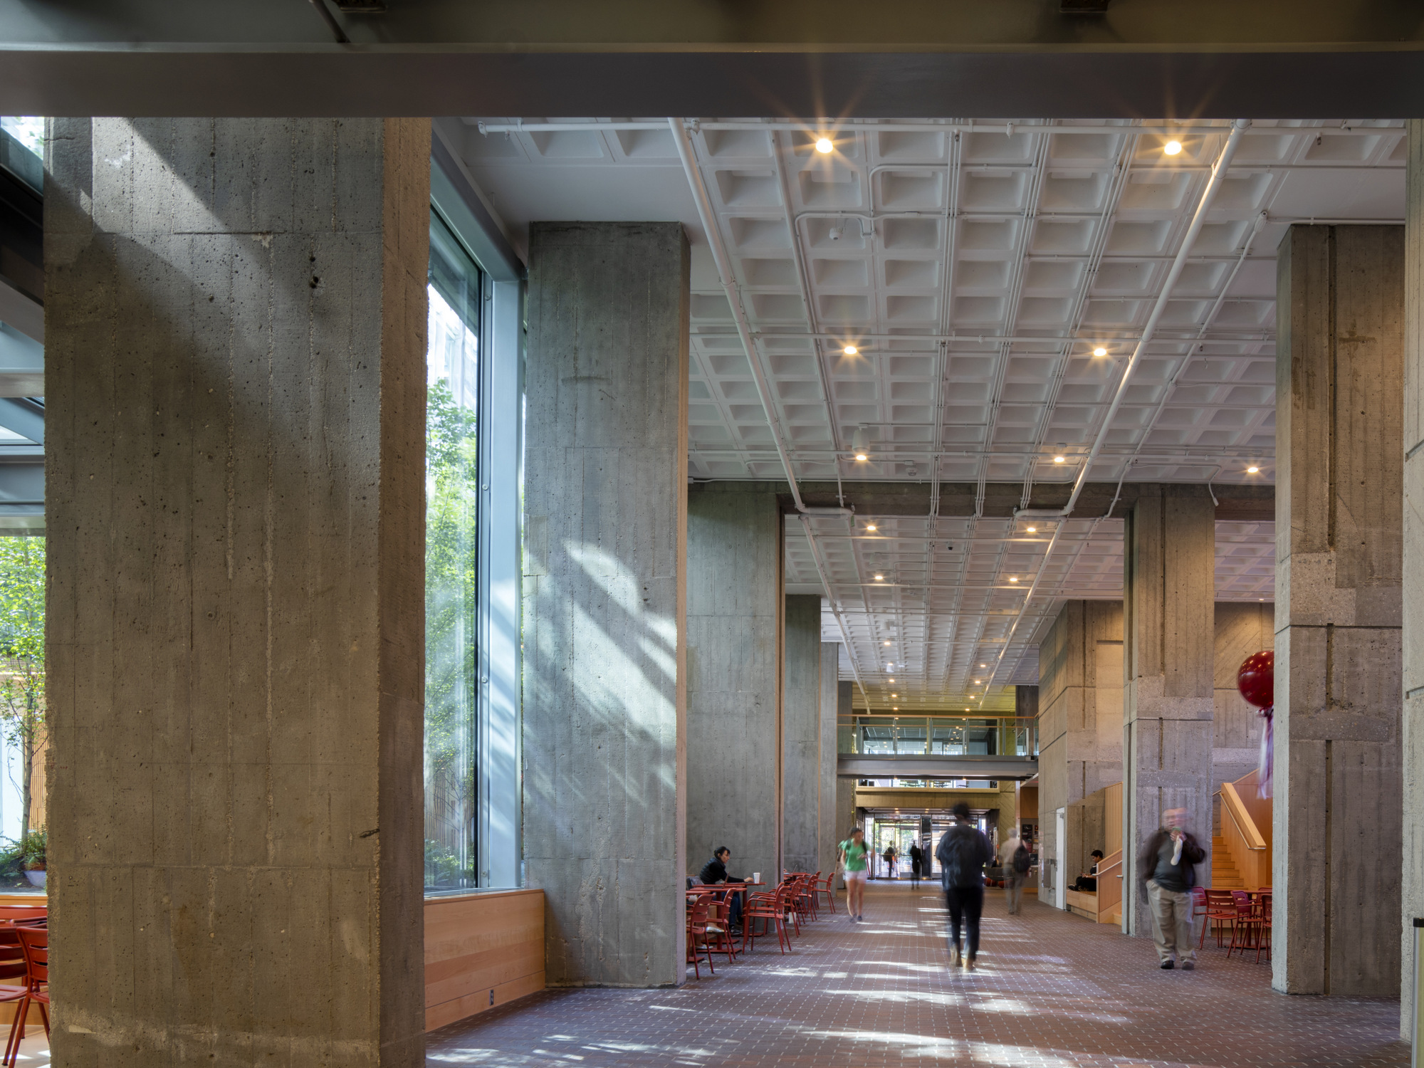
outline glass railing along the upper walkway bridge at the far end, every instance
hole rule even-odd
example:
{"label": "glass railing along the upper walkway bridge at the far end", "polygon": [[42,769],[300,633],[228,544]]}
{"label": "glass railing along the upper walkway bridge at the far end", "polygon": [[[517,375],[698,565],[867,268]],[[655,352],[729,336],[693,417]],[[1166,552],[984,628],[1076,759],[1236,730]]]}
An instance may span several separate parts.
{"label": "glass railing along the upper walkway bridge at the far end", "polygon": [[860,756],[1038,756],[1038,722],[1014,716],[852,716],[837,749]]}

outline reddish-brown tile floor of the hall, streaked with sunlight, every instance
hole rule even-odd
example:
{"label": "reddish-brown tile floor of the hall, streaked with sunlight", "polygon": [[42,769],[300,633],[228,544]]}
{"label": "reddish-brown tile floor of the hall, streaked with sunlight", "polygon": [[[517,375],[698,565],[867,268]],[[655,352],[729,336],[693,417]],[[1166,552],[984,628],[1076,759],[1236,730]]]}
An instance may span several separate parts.
{"label": "reddish-brown tile floor of the hall, streaked with sunlight", "polygon": [[866,923],[809,924],[681,990],[544,991],[430,1035],[429,1065],[1407,1065],[1398,1001],[1286,997],[1270,965],[1162,971],[1148,938],[990,890],[975,973],[946,967],[940,897],[866,893]]}

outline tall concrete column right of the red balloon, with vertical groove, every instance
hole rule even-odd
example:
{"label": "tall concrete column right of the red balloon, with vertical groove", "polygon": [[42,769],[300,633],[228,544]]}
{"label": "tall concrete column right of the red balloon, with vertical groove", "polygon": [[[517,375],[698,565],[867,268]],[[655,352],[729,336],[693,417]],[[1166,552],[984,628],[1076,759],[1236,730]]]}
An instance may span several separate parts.
{"label": "tall concrete column right of the red balloon, with vertical groove", "polygon": [[1292,226],[1276,271],[1272,984],[1391,997],[1403,833],[1404,228]]}

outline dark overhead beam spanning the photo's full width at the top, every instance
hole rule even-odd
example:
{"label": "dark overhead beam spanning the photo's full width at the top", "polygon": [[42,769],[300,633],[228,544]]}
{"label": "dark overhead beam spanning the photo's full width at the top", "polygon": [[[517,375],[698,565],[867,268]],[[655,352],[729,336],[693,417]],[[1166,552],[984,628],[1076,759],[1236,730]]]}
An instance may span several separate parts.
{"label": "dark overhead beam spanning the photo's full width at the top", "polygon": [[[1417,9],[1378,0],[883,4],[474,0],[343,14],[308,4],[0,3],[4,114],[1270,115],[1424,112]],[[537,43],[537,44],[531,44]],[[669,43],[676,43],[669,46]],[[907,44],[913,43],[913,44]]]}

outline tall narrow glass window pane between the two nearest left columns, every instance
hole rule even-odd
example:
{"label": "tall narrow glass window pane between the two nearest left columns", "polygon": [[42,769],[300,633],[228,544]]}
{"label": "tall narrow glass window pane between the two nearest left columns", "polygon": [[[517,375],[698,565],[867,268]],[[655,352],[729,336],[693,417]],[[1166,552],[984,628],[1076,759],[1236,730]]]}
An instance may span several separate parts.
{"label": "tall narrow glass window pane between the two nearest left columns", "polygon": [[480,269],[431,212],[426,359],[426,893],[477,886]]}

